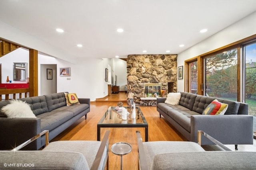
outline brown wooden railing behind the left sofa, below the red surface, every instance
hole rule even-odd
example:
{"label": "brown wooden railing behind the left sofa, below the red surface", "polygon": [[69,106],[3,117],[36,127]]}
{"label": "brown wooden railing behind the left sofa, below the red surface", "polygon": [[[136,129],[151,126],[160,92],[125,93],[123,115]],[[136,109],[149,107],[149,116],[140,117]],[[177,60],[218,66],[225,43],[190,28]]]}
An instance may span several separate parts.
{"label": "brown wooden railing behind the left sofa, below the red surface", "polygon": [[0,89],[0,101],[2,101],[2,95],[5,95],[5,100],[9,100],[10,94],[13,94],[13,99],[16,99],[16,94],[19,94],[19,98],[22,98],[22,94],[27,98],[29,97],[29,88]]}

